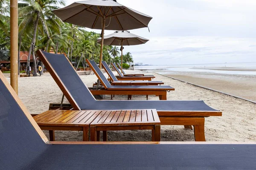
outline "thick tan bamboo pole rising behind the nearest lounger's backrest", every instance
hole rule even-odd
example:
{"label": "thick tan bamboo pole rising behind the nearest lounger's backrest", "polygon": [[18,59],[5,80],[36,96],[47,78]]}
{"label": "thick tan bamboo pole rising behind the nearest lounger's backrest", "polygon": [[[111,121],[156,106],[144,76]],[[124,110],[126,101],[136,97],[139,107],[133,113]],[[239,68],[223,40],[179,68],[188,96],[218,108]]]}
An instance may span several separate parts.
{"label": "thick tan bamboo pole rising behind the nearest lounger's backrest", "polygon": [[11,86],[18,94],[18,1],[10,0]]}

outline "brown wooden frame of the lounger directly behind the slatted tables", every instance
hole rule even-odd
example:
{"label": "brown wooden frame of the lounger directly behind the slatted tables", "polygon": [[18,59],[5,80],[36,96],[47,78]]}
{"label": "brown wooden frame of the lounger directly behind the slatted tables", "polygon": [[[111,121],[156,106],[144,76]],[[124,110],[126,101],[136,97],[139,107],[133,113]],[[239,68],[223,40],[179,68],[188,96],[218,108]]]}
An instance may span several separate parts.
{"label": "brown wooden frame of the lounger directly behind the slatted tables", "polygon": [[[41,55],[42,54],[41,50],[38,50],[37,54]],[[58,77],[56,72],[49,65],[47,60],[44,60],[44,59],[46,58],[42,57],[42,62],[46,65],[46,67],[49,68],[48,69],[49,73],[51,73],[53,79],[55,79],[55,82],[57,83],[57,85],[59,86],[63,94],[66,96],[67,100],[70,102],[72,106],[71,109],[73,108],[74,110],[81,110],[81,108],[76,103],[75,99],[73,99],[73,97],[67,90],[66,86],[62,83],[61,79]],[[56,105],[60,105],[60,104],[56,104]],[[67,105],[65,104],[65,106]],[[196,141],[205,141],[205,135],[204,135],[205,117],[222,116],[221,111],[157,111],[157,113],[160,118],[161,125],[185,125],[185,127],[187,128],[190,125],[193,125]]]}

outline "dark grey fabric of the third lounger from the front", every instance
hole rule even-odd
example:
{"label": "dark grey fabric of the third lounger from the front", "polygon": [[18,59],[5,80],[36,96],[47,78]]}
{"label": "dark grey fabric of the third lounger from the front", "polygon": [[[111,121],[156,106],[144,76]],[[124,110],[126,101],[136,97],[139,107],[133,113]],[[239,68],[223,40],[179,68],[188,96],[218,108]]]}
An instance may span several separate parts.
{"label": "dark grey fabric of the third lounger from the front", "polygon": [[96,73],[99,75],[99,77],[102,79],[102,81],[105,83],[105,85],[107,86],[107,88],[148,88],[148,89],[153,89],[153,88],[172,88],[169,85],[111,85],[110,82],[108,82],[108,79],[104,76],[104,74],[102,73],[102,71],[99,69],[98,65],[96,64],[95,61],[93,60],[89,60],[90,64],[93,66],[94,70],[96,71]]}

